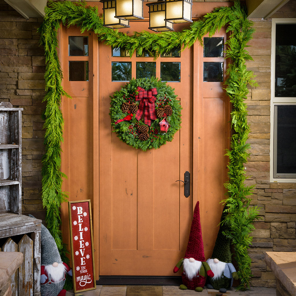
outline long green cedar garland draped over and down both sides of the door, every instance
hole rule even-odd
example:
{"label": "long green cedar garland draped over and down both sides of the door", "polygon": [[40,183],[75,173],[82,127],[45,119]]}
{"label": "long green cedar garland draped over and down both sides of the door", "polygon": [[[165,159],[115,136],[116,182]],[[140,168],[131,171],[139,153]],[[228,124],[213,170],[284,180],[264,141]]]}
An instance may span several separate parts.
{"label": "long green cedar garland draped over and down both sides of the door", "polygon": [[[57,29],[60,23],[66,26],[76,25],[85,30],[93,30],[99,40],[114,47],[125,48],[130,55],[141,54],[143,50],[152,52],[155,57],[180,46],[186,48],[195,42],[202,44],[202,37],[209,33],[212,36],[223,26],[228,25],[231,35],[227,41],[226,56],[231,58],[228,65],[226,92],[232,103],[231,123],[234,130],[231,138],[229,156],[229,182],[225,184],[228,198],[225,220],[230,227],[226,234],[232,239],[235,258],[238,263],[238,275],[241,283],[238,289],[245,290],[250,285],[250,257],[247,249],[252,242],[250,232],[252,222],[258,216],[258,208],[250,207],[251,188],[245,186],[244,163],[247,162],[248,148],[246,140],[249,133],[247,111],[244,99],[248,93],[247,84],[255,83],[254,74],[246,70],[245,61],[252,59],[246,51],[247,42],[252,38],[252,22],[247,19],[245,8],[239,0],[232,7],[218,7],[206,14],[201,20],[192,23],[189,29],[182,32],[163,32],[159,34],[146,31],[135,32],[128,36],[103,26],[102,17],[96,7],[86,7],[85,2],[48,1],[45,8],[44,22],[39,28],[40,43],[44,46],[46,57],[45,88],[46,111],[44,114],[46,155],[43,159],[42,200],[46,207],[46,222],[49,231],[55,238],[62,252],[62,238],[59,230],[61,220],[60,205],[66,199],[61,190],[63,174],[60,172],[60,143],[63,140],[63,118],[60,111],[61,96],[67,94],[61,86],[62,70],[57,55]],[[148,148],[148,147],[147,147]]]}

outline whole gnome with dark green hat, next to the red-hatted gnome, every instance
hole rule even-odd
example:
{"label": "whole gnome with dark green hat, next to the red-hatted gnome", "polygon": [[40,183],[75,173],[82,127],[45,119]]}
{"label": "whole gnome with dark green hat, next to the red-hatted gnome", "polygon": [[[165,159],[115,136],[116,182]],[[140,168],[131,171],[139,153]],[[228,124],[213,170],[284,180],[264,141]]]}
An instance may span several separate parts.
{"label": "whole gnome with dark green hat, next to the red-hatted gnome", "polygon": [[[221,215],[221,222],[226,215],[224,210],[225,207]],[[207,260],[214,273],[212,278],[207,278],[207,288],[219,290],[221,293],[226,293],[232,287],[233,279],[238,279],[237,272],[231,263],[230,239],[223,234],[223,231],[226,230],[227,226],[220,223],[212,257]]]}

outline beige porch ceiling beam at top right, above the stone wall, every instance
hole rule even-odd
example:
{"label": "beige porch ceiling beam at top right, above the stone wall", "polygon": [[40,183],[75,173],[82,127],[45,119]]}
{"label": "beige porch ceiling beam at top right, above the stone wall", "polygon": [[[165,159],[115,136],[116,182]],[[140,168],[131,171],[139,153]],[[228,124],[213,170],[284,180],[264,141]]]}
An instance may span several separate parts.
{"label": "beige porch ceiling beam at top right, above the stone wall", "polygon": [[289,0],[246,0],[248,18],[267,19]]}

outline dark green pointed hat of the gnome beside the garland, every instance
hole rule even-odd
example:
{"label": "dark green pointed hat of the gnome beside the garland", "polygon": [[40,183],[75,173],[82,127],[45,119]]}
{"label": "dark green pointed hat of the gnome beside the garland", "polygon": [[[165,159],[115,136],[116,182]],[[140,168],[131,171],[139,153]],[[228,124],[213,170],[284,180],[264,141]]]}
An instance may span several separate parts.
{"label": "dark green pointed hat of the gnome beside the garland", "polygon": [[[226,206],[221,215],[221,222],[224,221],[227,215],[227,213],[224,212],[225,209]],[[230,239],[222,233],[223,231],[228,230],[228,226],[226,224],[221,224],[221,222],[211,258],[217,258],[222,262],[231,263]]]}

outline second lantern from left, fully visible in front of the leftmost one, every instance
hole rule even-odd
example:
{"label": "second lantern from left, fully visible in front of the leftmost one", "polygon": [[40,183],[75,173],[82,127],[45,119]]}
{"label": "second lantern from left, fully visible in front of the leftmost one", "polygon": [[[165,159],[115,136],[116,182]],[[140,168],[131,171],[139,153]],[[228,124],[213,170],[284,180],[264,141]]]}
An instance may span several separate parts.
{"label": "second lantern from left, fully visible in front of the leftmost one", "polygon": [[116,0],[115,17],[122,20],[144,19],[143,0]]}

